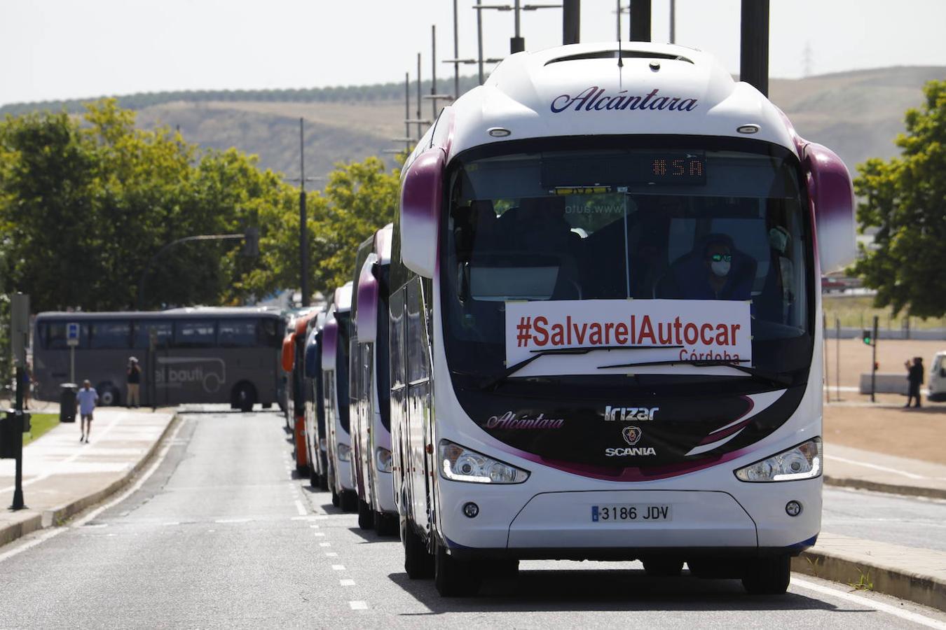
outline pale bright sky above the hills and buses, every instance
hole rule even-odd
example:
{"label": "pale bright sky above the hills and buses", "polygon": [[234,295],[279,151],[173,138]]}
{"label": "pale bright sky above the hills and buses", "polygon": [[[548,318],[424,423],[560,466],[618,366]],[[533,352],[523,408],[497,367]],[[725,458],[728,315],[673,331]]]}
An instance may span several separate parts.
{"label": "pale bright sky above the hills and buses", "polygon": [[[482,0],[504,2],[513,0]],[[459,55],[475,57],[475,0],[456,4]],[[582,0],[582,42],[617,37],[617,4]],[[676,0],[676,43],[710,52],[738,73],[740,4]],[[0,0],[0,105],[168,90],[363,85],[403,81],[408,72],[413,80],[418,52],[427,79],[431,25],[437,27],[437,59],[453,57],[453,5],[452,0]],[[946,0],[771,0],[770,6],[771,77],[946,66]],[[670,0],[652,0],[652,8],[652,39],[667,42]],[[561,9],[524,11],[526,48],[560,44],[561,20]],[[513,13],[483,10],[482,31],[484,57],[502,57],[513,35]],[[624,14],[625,40],[627,32]],[[438,80],[452,72],[452,65],[437,63]],[[473,74],[475,66],[461,72]]]}

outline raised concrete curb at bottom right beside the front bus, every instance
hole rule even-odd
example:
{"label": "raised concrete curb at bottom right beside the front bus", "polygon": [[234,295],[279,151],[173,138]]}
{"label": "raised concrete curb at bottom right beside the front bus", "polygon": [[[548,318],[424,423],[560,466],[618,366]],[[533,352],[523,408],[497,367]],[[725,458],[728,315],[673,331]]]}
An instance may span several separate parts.
{"label": "raised concrete curb at bottom right beside the front bus", "polygon": [[866,563],[843,553],[818,551],[816,548],[792,558],[792,570],[851,587],[871,583],[873,586],[869,590],[873,592],[946,611],[946,581],[931,575],[885,567],[881,563]]}

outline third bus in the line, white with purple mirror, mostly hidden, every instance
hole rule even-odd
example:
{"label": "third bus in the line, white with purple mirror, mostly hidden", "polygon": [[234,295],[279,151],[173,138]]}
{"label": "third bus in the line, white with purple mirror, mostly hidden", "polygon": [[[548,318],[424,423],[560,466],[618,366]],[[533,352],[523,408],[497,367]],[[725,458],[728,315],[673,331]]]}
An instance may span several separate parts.
{"label": "third bus in the line, white with purple mirror, mostly hidden", "polygon": [[332,504],[346,512],[358,506],[352,470],[348,414],[348,338],[351,334],[352,283],[335,290],[322,329],[322,378],[327,443],[328,489]]}

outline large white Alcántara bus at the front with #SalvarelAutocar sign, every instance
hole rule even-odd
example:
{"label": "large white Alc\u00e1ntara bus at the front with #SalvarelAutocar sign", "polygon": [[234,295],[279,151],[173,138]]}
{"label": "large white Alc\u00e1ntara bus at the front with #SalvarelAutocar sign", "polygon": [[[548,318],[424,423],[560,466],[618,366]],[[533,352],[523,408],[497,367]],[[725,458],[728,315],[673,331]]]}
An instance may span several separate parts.
{"label": "large white Alc\u00e1ntara bus at the front with #SalvarelAutocar sign", "polygon": [[394,498],[442,595],[524,558],[780,593],[820,530],[850,175],[708,55],[619,50],[507,58],[402,171]]}

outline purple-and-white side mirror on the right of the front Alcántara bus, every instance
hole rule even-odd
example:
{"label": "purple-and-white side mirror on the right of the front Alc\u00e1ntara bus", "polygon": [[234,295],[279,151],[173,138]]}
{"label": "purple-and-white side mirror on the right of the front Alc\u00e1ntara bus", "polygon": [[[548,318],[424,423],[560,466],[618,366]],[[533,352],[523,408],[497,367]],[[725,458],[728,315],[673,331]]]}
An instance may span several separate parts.
{"label": "purple-and-white side mirror on the right of the front Alc\u00e1ntara bus", "polygon": [[808,197],[815,207],[815,230],[821,273],[854,262],[854,188],[848,167],[828,147],[805,145]]}

